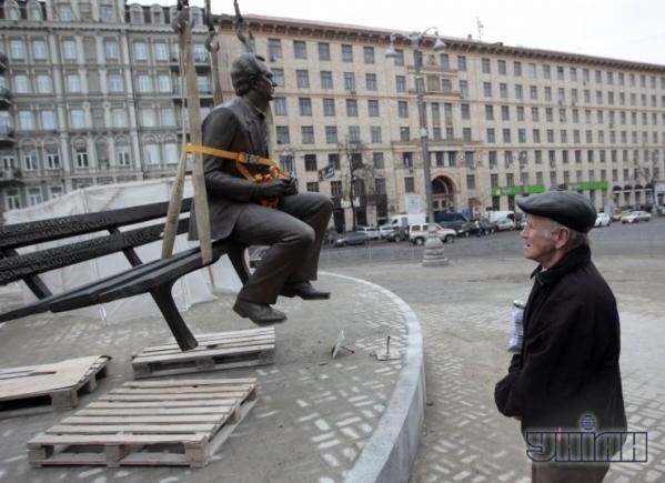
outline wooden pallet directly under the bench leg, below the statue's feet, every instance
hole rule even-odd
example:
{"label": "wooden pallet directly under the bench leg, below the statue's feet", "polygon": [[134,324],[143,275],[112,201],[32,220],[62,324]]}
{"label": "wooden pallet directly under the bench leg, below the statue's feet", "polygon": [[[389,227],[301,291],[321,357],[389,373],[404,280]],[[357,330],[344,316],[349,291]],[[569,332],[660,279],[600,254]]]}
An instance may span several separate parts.
{"label": "wooden pallet directly under the bench leg, below the statue's feet", "polygon": [[199,346],[182,352],[175,342],[132,356],[134,379],[248,368],[274,362],[274,328],[197,335]]}

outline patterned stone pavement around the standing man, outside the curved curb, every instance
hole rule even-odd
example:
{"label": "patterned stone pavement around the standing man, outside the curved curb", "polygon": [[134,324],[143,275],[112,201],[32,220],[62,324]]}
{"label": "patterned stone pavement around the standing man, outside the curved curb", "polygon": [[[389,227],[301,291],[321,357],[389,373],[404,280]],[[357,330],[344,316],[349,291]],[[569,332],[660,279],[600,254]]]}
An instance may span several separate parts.
{"label": "patterned stone pavement around the standing man, outside the curved curb", "polygon": [[[648,463],[613,464],[607,482],[665,481],[665,259],[594,256],[622,318],[622,373],[629,429],[648,432]],[[517,422],[495,409],[507,369],[510,305],[531,289],[521,258],[423,269],[415,263],[344,268],[392,290],[419,316],[427,410],[412,483],[528,482]]]}

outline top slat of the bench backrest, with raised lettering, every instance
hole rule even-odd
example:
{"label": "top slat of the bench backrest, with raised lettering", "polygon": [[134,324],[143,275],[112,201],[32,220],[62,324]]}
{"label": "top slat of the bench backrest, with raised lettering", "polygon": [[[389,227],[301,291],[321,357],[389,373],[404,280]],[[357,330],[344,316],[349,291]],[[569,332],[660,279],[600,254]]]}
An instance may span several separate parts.
{"label": "top slat of the bench backrest, with raised lettering", "polygon": [[[192,200],[182,200],[181,213],[190,211]],[[0,250],[94,233],[114,227],[141,223],[167,215],[168,202],[121,208],[98,213],[74,214],[0,227]]]}

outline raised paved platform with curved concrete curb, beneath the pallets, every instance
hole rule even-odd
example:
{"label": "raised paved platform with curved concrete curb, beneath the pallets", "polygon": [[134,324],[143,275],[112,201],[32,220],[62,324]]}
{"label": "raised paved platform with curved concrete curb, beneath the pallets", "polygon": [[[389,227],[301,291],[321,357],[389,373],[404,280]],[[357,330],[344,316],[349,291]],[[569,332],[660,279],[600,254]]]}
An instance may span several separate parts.
{"label": "raised paved platform with curved concrete curb, beneath the pallets", "polygon": [[[359,279],[322,274],[330,301],[280,299],[275,363],[197,374],[259,379],[252,412],[204,469],[94,466],[31,469],[26,443],[70,412],[0,419],[0,483],[14,482],[405,482],[417,451],[425,390],[420,323],[396,295]],[[18,302],[0,288],[0,306]],[[234,296],[190,309],[197,333],[251,329],[231,311]],[[344,330],[345,346],[331,349]],[[105,324],[75,313],[42,314],[0,325],[0,368],[69,356],[113,356],[109,376],[81,405],[132,379],[132,353],[168,338],[159,315]],[[372,355],[391,335],[401,360]],[[182,375],[185,378],[187,375]],[[0,415],[1,417],[1,415]]]}

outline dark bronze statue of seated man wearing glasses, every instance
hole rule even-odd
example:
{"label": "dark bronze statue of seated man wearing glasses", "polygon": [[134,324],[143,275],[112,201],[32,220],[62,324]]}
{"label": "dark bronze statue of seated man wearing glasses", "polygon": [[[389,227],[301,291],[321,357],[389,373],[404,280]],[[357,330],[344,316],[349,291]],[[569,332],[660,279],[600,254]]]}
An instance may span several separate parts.
{"label": "dark bronze statue of seated man wearing glasses", "polygon": [[[231,67],[236,97],[213,109],[203,120],[203,144],[208,148],[268,158],[265,110],[273,99],[272,72],[263,58],[238,57]],[[245,245],[270,245],[261,263],[244,284],[233,306],[256,324],[282,322],[286,315],[271,305],[278,295],[304,300],[329,299],[316,290],[319,253],[332,214],[330,198],[298,193],[293,179],[274,179],[268,167],[239,165],[214,155],[203,159],[213,239],[231,237]],[[268,178],[265,182],[246,179]],[[266,201],[276,209],[269,208]],[[195,222],[190,223],[195,239]]]}

